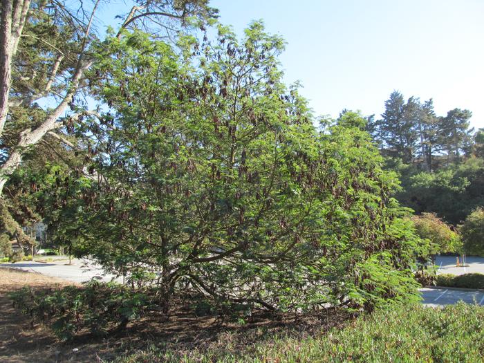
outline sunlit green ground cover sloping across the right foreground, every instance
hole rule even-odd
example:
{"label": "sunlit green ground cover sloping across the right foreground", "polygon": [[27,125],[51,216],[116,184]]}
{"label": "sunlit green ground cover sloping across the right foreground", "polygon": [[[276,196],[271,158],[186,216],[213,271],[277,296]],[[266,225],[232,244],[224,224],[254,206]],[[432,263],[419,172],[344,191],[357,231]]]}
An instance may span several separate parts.
{"label": "sunlit green ground cover sloping across the right foreground", "polygon": [[483,306],[400,306],[313,336],[258,335],[257,342],[233,344],[224,335],[223,342],[189,351],[155,344],[114,362],[481,362],[483,319]]}

